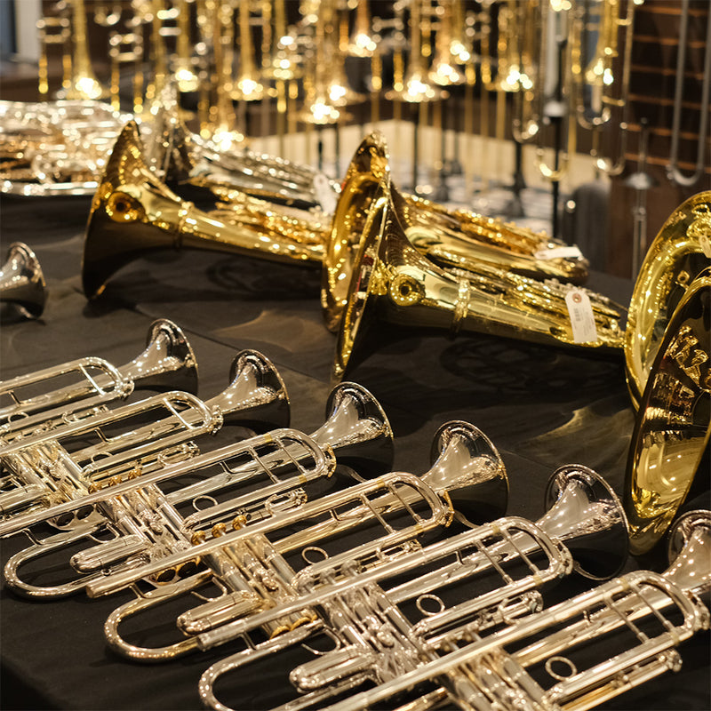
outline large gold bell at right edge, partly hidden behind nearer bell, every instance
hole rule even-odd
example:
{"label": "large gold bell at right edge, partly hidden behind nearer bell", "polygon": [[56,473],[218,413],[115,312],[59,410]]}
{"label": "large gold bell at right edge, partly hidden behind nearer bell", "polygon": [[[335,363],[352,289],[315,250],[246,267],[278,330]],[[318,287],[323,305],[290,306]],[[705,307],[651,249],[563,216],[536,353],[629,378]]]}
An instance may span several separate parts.
{"label": "large gold bell at right edge, partly hidden behind nearer bell", "polygon": [[[659,281],[655,276],[659,269],[667,271],[669,268],[667,250],[676,249],[684,254],[704,252],[704,247],[700,243],[701,238],[697,236],[694,239],[693,236],[690,236],[688,228],[684,239],[678,238],[679,224],[689,220],[689,227],[691,227],[694,222],[693,216],[702,207],[706,208],[706,212],[709,215],[707,218],[707,239],[711,242],[711,190],[704,190],[686,199],[667,218],[648,248],[642,267],[635,280],[635,288],[627,309],[627,327],[623,344],[627,389],[635,409],[639,409],[644,387],[651,371],[651,363],[654,361],[655,356],[655,353],[652,353],[653,346],[650,343],[645,342],[641,347],[638,346],[640,340],[639,324],[643,321],[644,315],[650,309],[656,315],[655,317],[659,315],[659,305],[655,307],[651,303],[652,293],[650,292],[650,286],[652,282]],[[711,264],[711,259],[708,263]],[[692,275],[692,277],[695,276],[697,275]],[[691,284],[691,279],[689,284]],[[669,314],[667,318],[671,318],[671,316]],[[642,337],[645,341],[648,340],[648,335],[642,334]],[[643,354],[644,363],[635,362],[635,356],[638,353]]]}

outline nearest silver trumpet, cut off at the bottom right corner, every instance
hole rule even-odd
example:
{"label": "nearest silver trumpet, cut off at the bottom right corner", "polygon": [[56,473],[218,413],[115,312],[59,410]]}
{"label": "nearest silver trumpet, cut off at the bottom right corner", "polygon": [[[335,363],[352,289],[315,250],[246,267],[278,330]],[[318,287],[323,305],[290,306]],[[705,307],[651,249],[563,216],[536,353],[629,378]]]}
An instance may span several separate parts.
{"label": "nearest silver trumpet, cut off at the bottom right corner", "polygon": [[378,707],[427,683],[429,691],[399,708],[424,711],[448,701],[474,711],[584,711],[678,671],[675,647],[709,626],[699,597],[711,590],[709,512],[683,515],[669,550],[673,561],[662,574],[627,573],[321,708]]}

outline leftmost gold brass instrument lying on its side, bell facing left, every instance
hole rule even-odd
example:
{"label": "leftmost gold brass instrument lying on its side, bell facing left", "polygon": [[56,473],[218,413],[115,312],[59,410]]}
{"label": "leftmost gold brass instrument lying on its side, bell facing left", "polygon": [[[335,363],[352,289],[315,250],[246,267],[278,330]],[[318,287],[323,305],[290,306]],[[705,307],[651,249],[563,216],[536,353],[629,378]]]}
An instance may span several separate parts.
{"label": "leftmost gold brass instrument lying on its side, bell facing left", "polygon": [[139,252],[166,247],[321,261],[325,226],[313,216],[305,220],[298,211],[286,214],[231,191],[231,206],[216,217],[175,195],[148,169],[141,151],[138,126],[129,122],[116,140],[86,227],[82,278],[87,297],[99,294],[108,276]]}

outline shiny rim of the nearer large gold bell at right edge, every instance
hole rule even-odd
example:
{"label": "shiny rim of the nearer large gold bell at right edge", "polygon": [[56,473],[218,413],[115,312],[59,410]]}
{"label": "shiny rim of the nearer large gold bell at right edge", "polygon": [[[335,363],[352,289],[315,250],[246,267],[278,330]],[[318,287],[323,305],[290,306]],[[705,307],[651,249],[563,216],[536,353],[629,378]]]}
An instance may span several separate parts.
{"label": "shiny rim of the nearer large gold bell at right edge", "polygon": [[[654,547],[667,532],[672,524],[676,512],[683,505],[684,500],[691,490],[691,485],[699,473],[699,466],[707,451],[709,439],[711,438],[711,419],[707,422],[706,435],[699,446],[698,456],[694,458],[693,466],[685,467],[682,471],[683,480],[676,486],[677,495],[675,499],[663,507],[655,515],[640,514],[640,507],[635,506],[634,489],[638,486],[640,475],[640,462],[643,460],[643,453],[656,443],[653,436],[658,429],[645,427],[651,419],[659,419],[659,408],[653,402],[653,396],[657,392],[655,374],[659,371],[660,364],[668,357],[668,348],[675,336],[680,332],[682,325],[688,320],[689,304],[703,290],[711,290],[711,267],[704,269],[701,274],[694,279],[689,289],[684,293],[682,300],[675,309],[674,315],[667,324],[667,331],[659,345],[659,350],[651,365],[650,377],[644,387],[643,396],[640,401],[639,411],[635,419],[635,428],[627,456],[627,469],[625,473],[623,502],[630,523],[630,549],[634,555],[647,553]],[[707,334],[708,335],[708,334]],[[706,344],[707,348],[709,344]],[[674,489],[667,492],[652,492],[662,494],[674,494]]]}

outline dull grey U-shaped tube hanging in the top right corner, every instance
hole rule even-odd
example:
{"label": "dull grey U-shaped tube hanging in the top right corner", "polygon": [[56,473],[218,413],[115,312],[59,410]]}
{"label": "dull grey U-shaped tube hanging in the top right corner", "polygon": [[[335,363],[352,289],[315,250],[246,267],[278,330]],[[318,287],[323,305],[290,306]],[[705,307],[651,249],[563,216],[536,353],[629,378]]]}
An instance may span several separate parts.
{"label": "dull grey U-shaped tube hanging in the top right corner", "polygon": [[[669,149],[669,164],[667,177],[676,185],[690,188],[696,185],[704,175],[707,165],[707,126],[708,105],[711,100],[711,12],[708,15],[706,30],[706,50],[704,55],[704,74],[701,79],[701,99],[699,107],[699,135],[697,138],[696,164],[693,172],[684,174],[679,168],[679,138],[683,110],[684,65],[686,60],[686,36],[689,26],[689,0],[682,0],[681,17],[679,20],[679,44],[676,57],[676,76],[674,92],[674,115],[672,117],[672,141]],[[706,157],[705,157],[706,156]]]}

